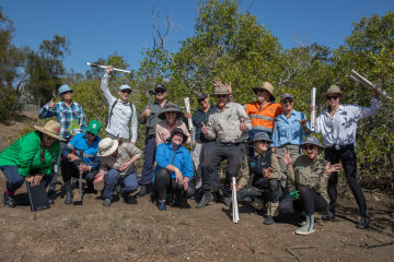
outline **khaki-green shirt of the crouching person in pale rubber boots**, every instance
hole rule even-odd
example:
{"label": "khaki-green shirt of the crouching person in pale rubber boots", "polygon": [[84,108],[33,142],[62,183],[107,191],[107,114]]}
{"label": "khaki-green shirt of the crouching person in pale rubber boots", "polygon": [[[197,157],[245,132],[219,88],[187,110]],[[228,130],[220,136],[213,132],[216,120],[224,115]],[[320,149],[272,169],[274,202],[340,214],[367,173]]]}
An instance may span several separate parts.
{"label": "khaki-green shirt of the crouching person in pale rubber boots", "polygon": [[288,168],[287,175],[296,188],[304,186],[320,193],[328,203],[327,178],[324,176],[327,162],[321,157],[311,160],[306,155],[297,157],[292,168]]}

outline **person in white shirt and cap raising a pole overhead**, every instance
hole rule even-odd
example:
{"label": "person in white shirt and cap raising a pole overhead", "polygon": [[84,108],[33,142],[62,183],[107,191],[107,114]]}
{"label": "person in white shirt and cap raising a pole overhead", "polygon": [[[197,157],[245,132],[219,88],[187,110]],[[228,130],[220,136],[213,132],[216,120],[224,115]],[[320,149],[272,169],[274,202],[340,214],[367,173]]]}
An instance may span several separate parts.
{"label": "person in white shirt and cap raising a pole overhead", "polygon": [[131,87],[121,85],[118,91],[119,98],[115,98],[108,90],[109,73],[114,70],[108,66],[102,79],[101,90],[108,102],[108,118],[105,131],[112,139],[121,139],[132,144],[137,141],[137,112],[136,107],[129,102]]}

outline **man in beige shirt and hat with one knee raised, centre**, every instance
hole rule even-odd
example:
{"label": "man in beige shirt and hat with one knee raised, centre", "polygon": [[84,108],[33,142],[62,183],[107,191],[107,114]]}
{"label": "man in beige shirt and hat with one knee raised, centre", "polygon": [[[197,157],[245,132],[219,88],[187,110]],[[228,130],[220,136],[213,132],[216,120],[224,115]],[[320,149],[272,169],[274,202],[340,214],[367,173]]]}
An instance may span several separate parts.
{"label": "man in beige shirt and hat with one knee raised, centre", "polygon": [[204,135],[208,140],[216,140],[217,142],[202,163],[201,189],[204,194],[197,204],[197,209],[206,206],[212,200],[210,176],[224,159],[228,159],[228,168],[227,180],[223,186],[223,202],[224,199],[230,199],[231,179],[239,174],[242,158],[245,155],[247,131],[252,129],[252,123],[242,105],[227,103],[230,94],[231,92],[224,85],[215,86],[211,96],[217,102],[216,110],[208,117],[207,126],[201,123]]}

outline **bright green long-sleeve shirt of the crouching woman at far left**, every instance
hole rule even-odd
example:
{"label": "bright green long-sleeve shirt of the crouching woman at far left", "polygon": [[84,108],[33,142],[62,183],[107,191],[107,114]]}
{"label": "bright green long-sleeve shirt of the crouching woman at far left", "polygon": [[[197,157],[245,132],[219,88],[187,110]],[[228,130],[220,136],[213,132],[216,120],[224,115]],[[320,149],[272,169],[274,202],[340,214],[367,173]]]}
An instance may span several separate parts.
{"label": "bright green long-sleeve shirt of the crouching woman at far left", "polygon": [[44,163],[40,159],[40,136],[38,131],[23,135],[0,153],[0,166],[18,166],[23,177],[42,172],[49,175],[60,152],[60,142],[56,141],[49,150],[44,150]]}

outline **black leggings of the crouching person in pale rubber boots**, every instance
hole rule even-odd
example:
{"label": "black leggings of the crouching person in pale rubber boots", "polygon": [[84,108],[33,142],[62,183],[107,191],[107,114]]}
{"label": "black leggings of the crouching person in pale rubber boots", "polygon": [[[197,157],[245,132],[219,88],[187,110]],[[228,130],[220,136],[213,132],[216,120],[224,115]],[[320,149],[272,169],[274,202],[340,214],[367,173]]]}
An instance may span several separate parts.
{"label": "black leggings of the crouching person in pale rubber boots", "polygon": [[313,189],[300,186],[300,199],[286,198],[279,204],[279,213],[282,215],[298,214],[305,211],[306,215],[314,212],[325,211],[327,201]]}

